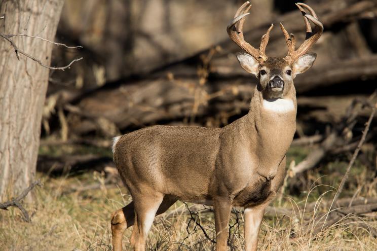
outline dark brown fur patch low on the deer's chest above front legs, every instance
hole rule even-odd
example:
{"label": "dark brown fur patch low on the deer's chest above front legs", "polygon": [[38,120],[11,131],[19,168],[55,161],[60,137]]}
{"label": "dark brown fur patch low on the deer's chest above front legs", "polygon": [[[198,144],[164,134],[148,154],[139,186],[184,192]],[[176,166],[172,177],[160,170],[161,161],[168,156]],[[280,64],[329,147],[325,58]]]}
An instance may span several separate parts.
{"label": "dark brown fur patch low on the deer's chest above front legs", "polygon": [[261,178],[253,185],[242,190],[233,200],[234,206],[256,206],[262,204],[271,195],[271,180]]}

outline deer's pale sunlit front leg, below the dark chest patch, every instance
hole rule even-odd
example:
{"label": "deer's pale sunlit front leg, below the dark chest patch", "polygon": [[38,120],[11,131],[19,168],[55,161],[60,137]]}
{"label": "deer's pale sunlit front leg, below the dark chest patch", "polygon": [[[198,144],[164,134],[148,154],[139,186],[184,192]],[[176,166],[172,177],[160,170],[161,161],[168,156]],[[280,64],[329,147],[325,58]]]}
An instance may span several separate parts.
{"label": "deer's pale sunlit front leg, below the dark chest patch", "polygon": [[258,247],[259,229],[263,214],[265,214],[265,206],[245,208],[245,251],[256,251]]}

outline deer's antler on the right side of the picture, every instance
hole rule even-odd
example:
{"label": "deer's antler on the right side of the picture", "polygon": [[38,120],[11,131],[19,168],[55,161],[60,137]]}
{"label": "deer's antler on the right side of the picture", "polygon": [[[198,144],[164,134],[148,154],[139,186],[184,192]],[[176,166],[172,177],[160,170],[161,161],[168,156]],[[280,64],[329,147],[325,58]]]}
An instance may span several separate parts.
{"label": "deer's antler on the right side of the picture", "polygon": [[[321,37],[321,34],[323,32],[323,24],[318,20],[316,13],[309,5],[297,3],[296,6],[301,11],[301,13],[303,13],[307,35],[304,43],[301,44],[297,50],[295,50],[296,40],[294,38],[294,35],[289,35],[286,29],[284,28],[283,24],[280,23],[280,28],[284,33],[285,41],[288,45],[288,55],[284,57],[284,60],[287,61],[289,64],[293,63],[300,56],[304,55],[307,51],[309,51],[310,48],[317,42],[319,37]],[[303,7],[308,9],[311,15],[307,14]],[[312,21],[315,25],[313,31],[312,27],[310,26],[309,20]]]}

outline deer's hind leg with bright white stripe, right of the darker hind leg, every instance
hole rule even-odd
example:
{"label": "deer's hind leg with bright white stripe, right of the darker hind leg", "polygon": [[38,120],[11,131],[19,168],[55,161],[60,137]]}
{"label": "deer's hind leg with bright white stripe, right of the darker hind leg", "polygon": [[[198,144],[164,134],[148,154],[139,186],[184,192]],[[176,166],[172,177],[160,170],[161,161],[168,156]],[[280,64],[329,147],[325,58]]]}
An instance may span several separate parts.
{"label": "deer's hind leg with bright white stripe, right of the darker hind leg", "polygon": [[135,203],[135,225],[130,243],[135,251],[145,250],[145,241],[153,220],[164,198],[160,193],[145,193],[133,196]]}

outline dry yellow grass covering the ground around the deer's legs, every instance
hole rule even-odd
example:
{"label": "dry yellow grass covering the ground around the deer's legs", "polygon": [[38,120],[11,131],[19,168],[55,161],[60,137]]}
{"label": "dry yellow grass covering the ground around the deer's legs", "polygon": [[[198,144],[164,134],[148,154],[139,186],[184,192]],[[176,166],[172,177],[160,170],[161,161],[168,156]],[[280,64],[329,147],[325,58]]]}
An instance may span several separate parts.
{"label": "dry yellow grass covering the ground around the deer's legs", "polygon": [[[83,182],[98,182],[98,173],[87,173],[75,177],[51,178],[42,176],[44,186],[35,189],[35,203],[27,205],[32,222],[24,223],[17,208],[0,212],[0,246],[2,250],[112,250],[109,225],[110,213],[130,201],[130,196],[121,189],[92,190],[82,193],[64,194],[69,186]],[[315,188],[312,193],[320,187]],[[326,187],[328,189],[328,187]],[[321,188],[323,189],[323,188]],[[331,194],[327,193],[325,196]],[[359,222],[365,219],[347,216],[330,228],[313,235],[312,229],[323,211],[305,212],[298,209],[309,196],[283,199],[283,207],[292,208],[291,216],[276,216],[263,221],[259,235],[259,250],[377,250],[376,239]],[[317,198],[319,198],[317,196]],[[320,202],[320,200],[318,200]],[[184,209],[176,203],[169,211]],[[243,219],[232,216],[231,250],[243,250]],[[192,222],[187,228],[189,214],[166,214],[157,217],[147,241],[148,250],[212,250],[214,244],[194,228]],[[304,221],[304,218],[306,221]],[[305,228],[305,222],[311,225]],[[214,224],[211,213],[201,213],[200,223],[213,238]],[[377,226],[375,219],[367,222]],[[131,229],[124,235],[124,250],[131,250],[129,237]],[[290,238],[292,233],[295,238]]]}

